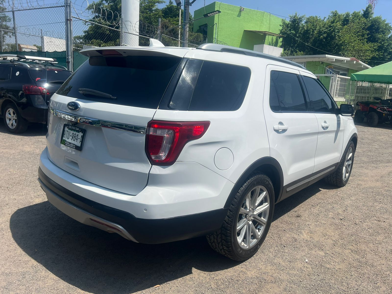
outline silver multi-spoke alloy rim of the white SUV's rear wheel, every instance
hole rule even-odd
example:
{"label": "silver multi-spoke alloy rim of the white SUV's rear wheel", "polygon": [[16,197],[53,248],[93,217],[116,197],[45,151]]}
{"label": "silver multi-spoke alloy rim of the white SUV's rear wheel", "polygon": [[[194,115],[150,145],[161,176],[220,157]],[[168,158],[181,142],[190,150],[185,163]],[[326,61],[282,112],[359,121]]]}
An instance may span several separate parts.
{"label": "silver multi-spoke alloy rim of the white SUV's rear wheel", "polygon": [[237,220],[237,241],[250,249],[261,238],[269,215],[269,194],[264,186],[254,187],[245,197]]}

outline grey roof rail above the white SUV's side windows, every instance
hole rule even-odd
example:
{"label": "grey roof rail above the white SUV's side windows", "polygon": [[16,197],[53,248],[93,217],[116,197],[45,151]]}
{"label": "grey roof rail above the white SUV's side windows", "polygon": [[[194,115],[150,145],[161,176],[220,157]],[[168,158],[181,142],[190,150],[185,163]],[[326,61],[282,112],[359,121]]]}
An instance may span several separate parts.
{"label": "grey roof rail above the white SUV's side windows", "polygon": [[305,67],[303,67],[302,65],[300,65],[294,61],[283,59],[283,58],[273,56],[270,54],[260,53],[257,51],[252,51],[252,50],[248,50],[248,49],[242,49],[242,48],[237,48],[237,47],[232,47],[232,46],[227,46],[227,45],[205,43],[205,44],[201,44],[196,49],[207,50],[207,51],[229,52],[229,53],[235,53],[235,54],[243,54],[243,55],[247,55],[247,56],[260,57],[260,58],[265,58],[265,59],[270,59],[270,60],[282,62],[285,64],[290,64],[290,65],[293,65],[296,67],[300,67],[301,69],[306,69]]}

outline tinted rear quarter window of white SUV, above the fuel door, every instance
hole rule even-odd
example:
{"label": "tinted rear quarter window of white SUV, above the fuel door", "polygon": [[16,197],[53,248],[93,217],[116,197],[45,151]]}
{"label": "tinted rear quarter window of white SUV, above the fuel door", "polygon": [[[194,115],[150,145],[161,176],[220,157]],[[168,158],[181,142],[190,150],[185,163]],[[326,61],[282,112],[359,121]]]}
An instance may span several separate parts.
{"label": "tinted rear quarter window of white SUV, above the fuel door", "polygon": [[189,111],[237,110],[245,98],[249,79],[248,67],[188,60],[169,107]]}

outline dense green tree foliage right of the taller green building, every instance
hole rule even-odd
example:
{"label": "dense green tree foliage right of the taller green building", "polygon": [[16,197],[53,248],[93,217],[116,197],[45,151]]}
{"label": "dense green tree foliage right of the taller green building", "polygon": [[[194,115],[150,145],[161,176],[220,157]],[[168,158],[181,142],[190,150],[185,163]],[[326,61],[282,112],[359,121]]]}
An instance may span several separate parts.
{"label": "dense green tree foliage right of the taller green building", "polygon": [[[371,5],[353,13],[332,11],[328,17],[290,15],[282,20],[284,56],[336,54],[374,66],[392,60],[392,27],[374,16]],[[306,43],[306,44],[305,44]]]}

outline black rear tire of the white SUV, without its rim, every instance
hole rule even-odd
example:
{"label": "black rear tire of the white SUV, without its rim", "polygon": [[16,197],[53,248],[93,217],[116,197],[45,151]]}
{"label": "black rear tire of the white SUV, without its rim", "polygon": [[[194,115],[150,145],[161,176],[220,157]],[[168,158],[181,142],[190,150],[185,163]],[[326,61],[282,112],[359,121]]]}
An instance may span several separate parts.
{"label": "black rear tire of the white SUV, without its rim", "polygon": [[[245,203],[244,201],[247,194],[252,192],[253,189],[259,185],[265,187],[269,194],[269,212],[267,222],[259,240],[249,249],[243,249],[237,241],[237,221],[239,220],[240,209],[243,203]],[[242,187],[234,197],[222,227],[213,234],[207,235],[207,241],[212,249],[236,261],[247,260],[254,256],[267,236],[272,216],[274,214],[274,203],[274,187],[272,186],[271,180],[265,174],[261,174],[260,172],[250,174],[248,180],[243,183]],[[254,236],[253,232],[251,234]]]}

